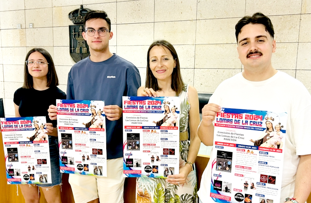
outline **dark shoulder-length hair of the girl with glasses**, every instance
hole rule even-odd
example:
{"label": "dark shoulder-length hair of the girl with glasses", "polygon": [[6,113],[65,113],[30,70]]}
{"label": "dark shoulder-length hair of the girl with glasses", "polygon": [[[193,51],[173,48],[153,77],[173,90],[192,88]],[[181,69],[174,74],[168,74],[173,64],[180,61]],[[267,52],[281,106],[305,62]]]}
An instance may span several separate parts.
{"label": "dark shoulder-length hair of the girl with glasses", "polygon": [[[27,53],[25,61],[28,60],[30,54],[32,54],[32,53],[34,53],[36,51],[39,52],[40,54],[42,54],[44,56],[44,58],[46,59],[46,61],[49,63],[48,64],[48,66],[49,66],[48,74],[46,75],[46,77],[48,79],[48,84],[46,86],[47,87],[58,86],[58,77],[57,77],[57,74],[56,74],[54,62],[53,62],[52,56],[49,54],[49,52],[47,50],[42,49],[42,48],[33,48],[32,50],[30,50]],[[24,85],[23,85],[23,88],[30,89],[32,87],[33,87],[32,76],[29,74],[27,63],[25,62],[25,65],[24,65]]]}

